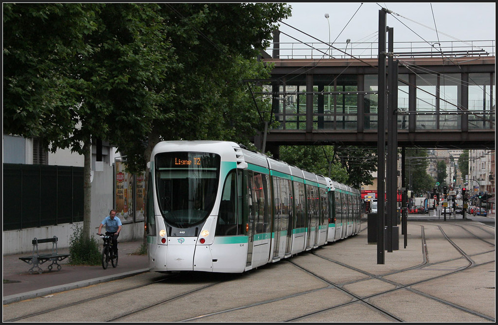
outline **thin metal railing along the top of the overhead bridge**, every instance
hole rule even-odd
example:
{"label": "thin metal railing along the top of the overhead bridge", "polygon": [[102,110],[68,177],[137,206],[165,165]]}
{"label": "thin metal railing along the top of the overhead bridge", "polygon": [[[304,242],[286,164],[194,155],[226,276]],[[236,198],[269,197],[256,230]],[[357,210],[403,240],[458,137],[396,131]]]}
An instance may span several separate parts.
{"label": "thin metal railing along the top of the overhead bridge", "polygon": [[[373,59],[378,56],[378,43],[322,42],[272,43],[266,52],[271,55],[274,46],[279,47],[280,59]],[[399,57],[475,57],[495,56],[495,40],[441,41],[441,42],[394,42],[394,53]]]}

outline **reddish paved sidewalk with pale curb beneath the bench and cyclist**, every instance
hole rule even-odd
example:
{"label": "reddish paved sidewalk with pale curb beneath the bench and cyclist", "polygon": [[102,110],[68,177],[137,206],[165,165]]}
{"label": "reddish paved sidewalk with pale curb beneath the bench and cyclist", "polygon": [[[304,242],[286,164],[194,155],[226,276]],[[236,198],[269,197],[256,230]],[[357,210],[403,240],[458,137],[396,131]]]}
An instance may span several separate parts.
{"label": "reddish paved sidewalk with pale curb beneath the bench and cyclist", "polygon": [[[118,267],[113,268],[111,263],[109,263],[109,267],[106,270],[102,268],[102,265],[69,265],[67,264],[67,259],[65,259],[59,262],[62,266],[60,271],[48,271],[47,266],[50,265],[50,262],[46,262],[40,265],[43,269],[42,274],[38,274],[38,272],[29,274],[28,271],[32,265],[20,260],[19,257],[29,256],[31,255],[30,253],[5,255],[3,256],[2,263],[3,304],[42,297],[148,272],[147,255],[132,255],[139,249],[141,244],[141,239],[119,242],[120,257]],[[69,253],[69,249],[59,249],[59,253]]]}

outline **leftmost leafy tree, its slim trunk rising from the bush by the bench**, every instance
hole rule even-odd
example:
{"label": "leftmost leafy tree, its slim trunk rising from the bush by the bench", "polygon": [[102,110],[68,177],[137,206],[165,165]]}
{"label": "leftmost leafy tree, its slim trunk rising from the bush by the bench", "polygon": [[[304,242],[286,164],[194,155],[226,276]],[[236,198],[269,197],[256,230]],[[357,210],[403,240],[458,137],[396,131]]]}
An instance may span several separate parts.
{"label": "leftmost leafy tree, its slim trunk rising from the bush by the bench", "polygon": [[156,4],[4,4],[4,130],[84,155],[90,237],[91,141],[148,130],[174,63]]}

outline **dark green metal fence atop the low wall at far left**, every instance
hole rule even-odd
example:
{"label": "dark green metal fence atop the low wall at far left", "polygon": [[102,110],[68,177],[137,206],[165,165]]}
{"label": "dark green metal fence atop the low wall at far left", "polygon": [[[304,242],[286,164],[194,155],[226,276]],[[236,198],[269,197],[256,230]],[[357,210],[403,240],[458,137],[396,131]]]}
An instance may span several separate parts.
{"label": "dark green metal fence atop the low wall at far left", "polygon": [[3,230],[83,221],[83,168],[3,164]]}

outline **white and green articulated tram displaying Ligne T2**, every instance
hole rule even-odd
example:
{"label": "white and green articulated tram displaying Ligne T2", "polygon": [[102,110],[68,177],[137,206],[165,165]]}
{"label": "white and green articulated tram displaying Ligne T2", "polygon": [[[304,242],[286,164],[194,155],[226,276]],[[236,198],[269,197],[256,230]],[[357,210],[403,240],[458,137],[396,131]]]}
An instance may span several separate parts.
{"label": "white and green articulated tram displaying Ligne T2", "polygon": [[234,142],[161,142],[148,167],[151,271],[239,273],[360,231],[360,191]]}

